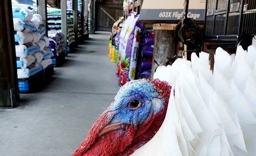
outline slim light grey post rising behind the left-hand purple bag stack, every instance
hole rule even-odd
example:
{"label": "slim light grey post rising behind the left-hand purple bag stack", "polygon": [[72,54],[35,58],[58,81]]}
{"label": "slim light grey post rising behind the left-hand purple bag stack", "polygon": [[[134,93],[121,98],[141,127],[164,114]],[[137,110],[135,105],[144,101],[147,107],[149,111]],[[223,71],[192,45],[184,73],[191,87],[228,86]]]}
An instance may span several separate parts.
{"label": "slim light grey post rising behind the left-hand purple bag stack", "polygon": [[67,49],[67,0],[61,0],[61,32],[64,35],[64,47]]}

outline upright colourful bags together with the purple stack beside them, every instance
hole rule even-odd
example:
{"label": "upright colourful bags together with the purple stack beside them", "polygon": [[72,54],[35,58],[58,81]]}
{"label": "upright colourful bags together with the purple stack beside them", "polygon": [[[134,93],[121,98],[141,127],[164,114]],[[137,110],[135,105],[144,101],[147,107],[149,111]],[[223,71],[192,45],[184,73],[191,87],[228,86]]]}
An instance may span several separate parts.
{"label": "upright colourful bags together with the purple stack beside them", "polygon": [[[119,86],[130,80],[150,78],[154,50],[154,31],[138,20],[139,14],[130,13],[113,24],[108,42],[108,56],[117,64]],[[147,27],[147,28],[146,28]]]}

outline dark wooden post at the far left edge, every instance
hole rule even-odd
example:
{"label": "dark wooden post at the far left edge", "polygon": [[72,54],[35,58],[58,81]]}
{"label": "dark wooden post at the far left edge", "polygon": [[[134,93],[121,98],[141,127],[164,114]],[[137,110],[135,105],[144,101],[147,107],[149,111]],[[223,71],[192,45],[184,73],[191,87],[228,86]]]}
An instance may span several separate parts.
{"label": "dark wooden post at the far left edge", "polygon": [[13,107],[18,100],[17,65],[11,0],[0,3],[0,107]]}

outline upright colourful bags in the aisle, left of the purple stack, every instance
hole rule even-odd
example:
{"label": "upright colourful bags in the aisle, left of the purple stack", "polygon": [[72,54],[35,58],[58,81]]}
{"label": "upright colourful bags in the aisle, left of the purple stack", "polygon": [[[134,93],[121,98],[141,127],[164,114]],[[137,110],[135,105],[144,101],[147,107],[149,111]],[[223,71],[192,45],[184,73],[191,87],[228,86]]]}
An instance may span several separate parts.
{"label": "upright colourful bags in the aisle, left of the purple stack", "polygon": [[117,64],[117,78],[119,86],[130,80],[135,80],[141,35],[145,25],[139,22],[139,14],[130,13],[124,20],[119,18],[113,25],[108,54],[112,62]]}

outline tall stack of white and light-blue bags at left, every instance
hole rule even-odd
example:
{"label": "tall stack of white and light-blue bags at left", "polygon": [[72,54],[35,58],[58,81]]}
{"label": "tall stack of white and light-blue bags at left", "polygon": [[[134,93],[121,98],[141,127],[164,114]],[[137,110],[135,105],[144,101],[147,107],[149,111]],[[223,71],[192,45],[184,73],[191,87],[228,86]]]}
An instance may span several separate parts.
{"label": "tall stack of white and light-blue bags at left", "polygon": [[35,83],[34,87],[41,84],[46,69],[52,67],[52,60],[43,54],[43,49],[49,46],[49,39],[43,36],[46,28],[42,25],[41,15],[33,14],[29,9],[13,10],[13,27],[19,89],[21,92],[30,91],[30,81]]}

